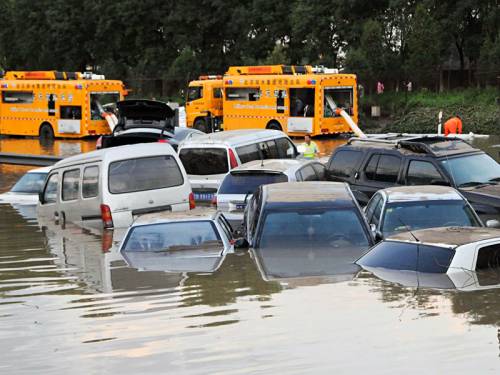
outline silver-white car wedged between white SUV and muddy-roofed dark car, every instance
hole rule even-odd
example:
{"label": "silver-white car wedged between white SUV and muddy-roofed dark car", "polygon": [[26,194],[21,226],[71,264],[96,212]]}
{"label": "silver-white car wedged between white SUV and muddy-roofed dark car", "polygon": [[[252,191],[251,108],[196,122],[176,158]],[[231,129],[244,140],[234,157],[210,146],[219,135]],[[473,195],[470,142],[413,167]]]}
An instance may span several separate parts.
{"label": "silver-white car wedged between white SUV and muddy-roofed dark car", "polygon": [[231,170],[217,190],[217,209],[233,227],[243,221],[243,212],[253,192],[261,185],[291,181],[321,181],[325,167],[314,160],[267,159],[254,160]]}

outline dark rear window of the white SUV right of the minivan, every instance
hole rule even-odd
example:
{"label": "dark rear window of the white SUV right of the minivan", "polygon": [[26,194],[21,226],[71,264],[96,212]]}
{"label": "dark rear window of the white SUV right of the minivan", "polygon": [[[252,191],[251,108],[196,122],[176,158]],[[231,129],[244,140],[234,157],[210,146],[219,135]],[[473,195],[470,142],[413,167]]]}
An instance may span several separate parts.
{"label": "dark rear window of the white SUV right of the minivan", "polygon": [[179,157],[188,174],[223,174],[229,170],[225,148],[184,148]]}

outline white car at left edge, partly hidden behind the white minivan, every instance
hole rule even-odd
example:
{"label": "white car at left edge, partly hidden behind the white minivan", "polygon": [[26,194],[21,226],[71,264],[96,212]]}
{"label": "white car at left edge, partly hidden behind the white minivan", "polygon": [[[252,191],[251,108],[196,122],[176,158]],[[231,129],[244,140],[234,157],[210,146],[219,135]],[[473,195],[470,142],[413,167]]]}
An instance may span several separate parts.
{"label": "white car at left edge, partly hidden behind the white minivan", "polygon": [[36,205],[49,171],[50,167],[28,171],[8,192],[0,194],[0,203]]}

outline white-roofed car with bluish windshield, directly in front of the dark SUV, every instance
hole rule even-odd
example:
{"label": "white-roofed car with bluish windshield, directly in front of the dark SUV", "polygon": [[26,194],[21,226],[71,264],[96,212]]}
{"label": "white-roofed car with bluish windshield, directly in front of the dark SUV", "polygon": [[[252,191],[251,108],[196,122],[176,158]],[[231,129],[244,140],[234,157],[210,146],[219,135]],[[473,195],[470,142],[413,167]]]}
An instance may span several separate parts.
{"label": "white-roofed car with bluish windshield, directly in front of the dark SUV", "polygon": [[[366,205],[365,215],[378,239],[415,229],[483,226],[469,202],[448,186],[398,186],[379,190]],[[499,223],[489,220],[487,224],[494,227]]]}

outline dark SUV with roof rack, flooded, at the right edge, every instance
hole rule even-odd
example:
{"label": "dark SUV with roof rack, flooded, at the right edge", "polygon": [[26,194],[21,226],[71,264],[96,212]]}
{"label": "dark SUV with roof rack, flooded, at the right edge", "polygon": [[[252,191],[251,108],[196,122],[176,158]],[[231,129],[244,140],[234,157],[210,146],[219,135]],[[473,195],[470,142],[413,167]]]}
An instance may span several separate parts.
{"label": "dark SUV with roof rack, flooded, at the right edge", "polygon": [[483,220],[500,217],[500,165],[459,138],[352,138],[332,154],[327,179],[349,183],[361,205],[395,185],[453,186]]}

